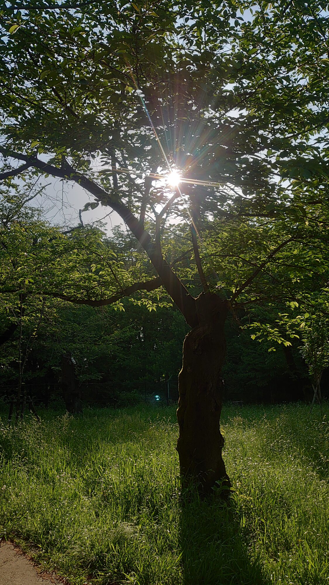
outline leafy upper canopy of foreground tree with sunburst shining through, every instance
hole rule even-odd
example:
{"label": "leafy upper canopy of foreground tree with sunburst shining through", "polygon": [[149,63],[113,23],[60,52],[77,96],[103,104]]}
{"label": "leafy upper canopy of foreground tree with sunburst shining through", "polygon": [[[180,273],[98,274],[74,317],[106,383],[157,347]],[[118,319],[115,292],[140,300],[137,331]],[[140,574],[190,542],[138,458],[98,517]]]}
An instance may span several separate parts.
{"label": "leafy upper canopy of foreground tree with sunburst shining through", "polygon": [[[289,218],[271,252],[294,233],[323,236],[325,7],[23,6],[1,12],[2,178],[52,174],[94,195],[92,207],[115,209],[190,324],[193,299],[162,257],[168,218],[198,234],[242,218],[262,218],[270,232]],[[172,192],[153,178],[167,163],[189,183]],[[298,233],[309,215],[309,234]],[[247,280],[250,262],[265,260],[262,238],[252,240],[260,249],[241,260]]]}

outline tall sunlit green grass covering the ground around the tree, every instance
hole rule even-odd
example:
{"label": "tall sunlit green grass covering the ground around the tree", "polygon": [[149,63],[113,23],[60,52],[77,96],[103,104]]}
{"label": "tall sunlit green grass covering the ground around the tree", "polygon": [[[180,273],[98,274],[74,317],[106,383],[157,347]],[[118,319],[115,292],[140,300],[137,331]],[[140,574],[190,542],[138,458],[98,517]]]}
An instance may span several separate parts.
{"label": "tall sunlit green grass covering the ground around the tree", "polygon": [[174,408],[0,428],[0,535],[72,585],[329,582],[329,408],[224,407],[228,507],[180,494]]}

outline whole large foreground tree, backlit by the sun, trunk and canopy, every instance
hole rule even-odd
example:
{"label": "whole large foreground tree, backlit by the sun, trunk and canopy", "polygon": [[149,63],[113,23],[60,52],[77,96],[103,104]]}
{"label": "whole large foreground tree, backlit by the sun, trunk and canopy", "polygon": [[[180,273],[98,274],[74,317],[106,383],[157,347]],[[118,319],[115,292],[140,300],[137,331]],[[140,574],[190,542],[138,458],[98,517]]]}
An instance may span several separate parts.
{"label": "whole large foreground tree, backlit by the sun, trunk and canopy", "polygon": [[[132,282],[135,269],[121,274],[106,296],[88,276],[88,287],[60,298],[100,306],[165,289],[191,328],[179,376],[181,476],[204,492],[228,484],[220,432],[225,320],[239,304],[291,300],[296,278],[285,273],[278,285],[274,260],[282,277],[283,252],[314,236],[308,222],[317,242],[326,238],[314,214],[328,177],[325,6],[164,0],[16,8],[0,13],[1,176],[73,181],[94,196],[91,207],[121,216],[152,270],[142,281]],[[183,178],[170,188],[175,168]],[[169,218],[176,224],[168,228]],[[177,221],[190,224],[192,269],[170,257],[174,240],[166,245]],[[215,242],[227,225],[249,233],[240,239],[243,254],[231,252],[235,272]],[[196,274],[198,287],[189,287]]]}

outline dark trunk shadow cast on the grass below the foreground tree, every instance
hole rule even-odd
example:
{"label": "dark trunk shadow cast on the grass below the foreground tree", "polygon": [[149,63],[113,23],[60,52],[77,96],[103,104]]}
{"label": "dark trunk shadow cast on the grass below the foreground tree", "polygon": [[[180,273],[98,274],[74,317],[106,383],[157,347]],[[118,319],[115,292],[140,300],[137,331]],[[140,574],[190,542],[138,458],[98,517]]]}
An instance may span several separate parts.
{"label": "dark trunk shadow cast on the grass below the foreground tree", "polygon": [[250,535],[234,501],[182,495],[180,518],[183,585],[266,585]]}

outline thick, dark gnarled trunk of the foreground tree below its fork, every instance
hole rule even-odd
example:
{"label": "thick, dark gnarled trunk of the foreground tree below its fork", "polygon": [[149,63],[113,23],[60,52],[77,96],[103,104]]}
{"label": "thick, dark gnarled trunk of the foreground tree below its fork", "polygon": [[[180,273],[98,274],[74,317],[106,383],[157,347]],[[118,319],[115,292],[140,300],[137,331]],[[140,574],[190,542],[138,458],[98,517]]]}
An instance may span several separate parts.
{"label": "thick, dark gnarled trunk of the foreground tree below its fork", "polygon": [[[200,493],[206,494],[217,482],[225,488],[230,486],[222,460],[224,438],[220,431],[228,306],[210,293],[202,293],[196,302],[199,325],[184,340],[179,374],[177,451],[183,486],[193,481]],[[228,494],[228,490],[224,493]]]}

